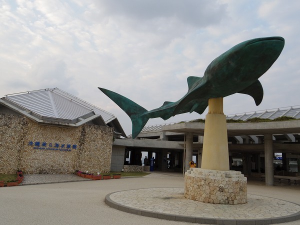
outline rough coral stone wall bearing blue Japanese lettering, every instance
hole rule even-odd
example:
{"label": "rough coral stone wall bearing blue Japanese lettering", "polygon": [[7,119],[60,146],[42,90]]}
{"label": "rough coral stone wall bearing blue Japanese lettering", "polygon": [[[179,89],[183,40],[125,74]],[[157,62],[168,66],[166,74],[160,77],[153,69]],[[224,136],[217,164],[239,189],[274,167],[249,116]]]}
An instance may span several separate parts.
{"label": "rough coral stone wall bearing blue Japanese lettering", "polygon": [[73,173],[110,170],[112,128],[39,125],[22,115],[0,114],[0,173]]}

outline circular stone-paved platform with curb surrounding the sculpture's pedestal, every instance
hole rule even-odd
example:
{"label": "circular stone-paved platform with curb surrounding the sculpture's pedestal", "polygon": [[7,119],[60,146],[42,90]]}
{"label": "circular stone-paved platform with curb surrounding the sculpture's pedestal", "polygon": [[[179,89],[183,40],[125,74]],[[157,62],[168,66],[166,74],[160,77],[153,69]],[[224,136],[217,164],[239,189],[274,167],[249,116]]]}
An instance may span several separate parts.
{"label": "circular stone-paved platform with curb surrounding the sculpture's pedestal", "polygon": [[300,205],[254,194],[248,194],[245,204],[212,204],[185,198],[183,188],[145,188],[107,194],[105,202],[137,215],[196,223],[272,224],[300,219]]}

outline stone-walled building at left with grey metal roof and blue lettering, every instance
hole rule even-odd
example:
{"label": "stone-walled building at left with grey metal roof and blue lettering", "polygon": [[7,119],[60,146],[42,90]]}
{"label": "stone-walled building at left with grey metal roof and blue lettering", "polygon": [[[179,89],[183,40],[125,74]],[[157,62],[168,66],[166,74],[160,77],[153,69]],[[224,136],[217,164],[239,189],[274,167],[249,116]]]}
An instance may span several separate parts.
{"label": "stone-walled building at left with grey metal roof and blue lettering", "polygon": [[110,171],[114,115],[58,88],[0,99],[0,173]]}

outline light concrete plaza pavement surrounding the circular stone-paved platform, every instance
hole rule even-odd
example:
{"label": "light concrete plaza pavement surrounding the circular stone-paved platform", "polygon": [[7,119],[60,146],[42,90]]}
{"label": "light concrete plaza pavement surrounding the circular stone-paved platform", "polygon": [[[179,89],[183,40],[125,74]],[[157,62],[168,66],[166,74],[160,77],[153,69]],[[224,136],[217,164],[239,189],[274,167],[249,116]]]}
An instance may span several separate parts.
{"label": "light concrete plaza pavement surrounding the circular stone-paved platform", "polygon": [[[55,176],[47,181],[55,182]],[[75,175],[68,176],[77,179]],[[26,178],[25,174],[24,181]],[[154,172],[144,177],[83,180],[0,188],[0,223],[191,224],[130,214],[109,207],[104,202],[105,195],[115,191],[150,187],[183,188],[182,173]],[[249,180],[248,193],[300,204],[300,185],[265,186],[264,182]],[[284,224],[296,225],[299,222],[300,220]]]}

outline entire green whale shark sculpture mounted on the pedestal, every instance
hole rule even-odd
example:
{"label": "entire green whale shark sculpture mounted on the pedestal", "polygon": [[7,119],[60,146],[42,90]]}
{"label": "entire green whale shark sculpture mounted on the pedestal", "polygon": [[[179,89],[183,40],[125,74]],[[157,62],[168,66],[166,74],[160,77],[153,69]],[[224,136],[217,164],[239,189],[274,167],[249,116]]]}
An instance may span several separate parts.
{"label": "entire green whale shark sculpture mounted on the pedestal", "polygon": [[216,57],[206,68],[203,77],[187,77],[188,91],[175,102],[165,101],[150,111],[111,90],[98,87],[130,117],[132,138],[135,138],[149,118],[171,116],[185,112],[202,114],[209,98],[244,93],[259,105],[263,89],[258,78],[280,55],[284,39],[279,36],[261,37],[243,41]]}

